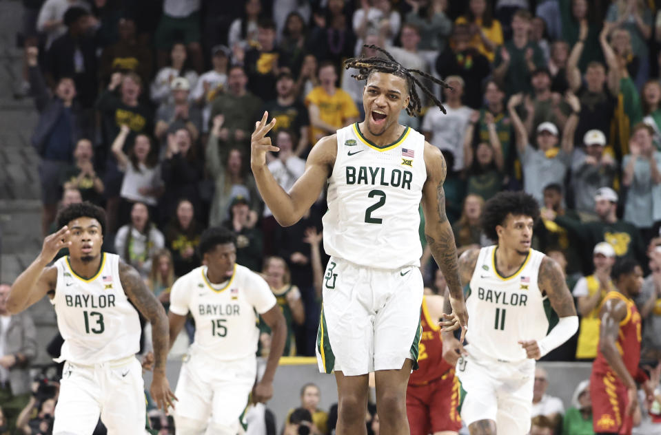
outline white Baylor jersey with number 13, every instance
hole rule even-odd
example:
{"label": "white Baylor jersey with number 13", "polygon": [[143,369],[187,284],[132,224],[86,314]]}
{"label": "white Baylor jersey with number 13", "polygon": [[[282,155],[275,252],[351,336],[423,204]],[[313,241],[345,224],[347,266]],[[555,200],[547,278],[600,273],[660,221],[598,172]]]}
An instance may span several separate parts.
{"label": "white Baylor jersey with number 13", "polygon": [[95,364],[140,350],[140,320],[119,280],[119,255],[101,253],[101,267],[90,279],[76,275],[68,257],[55,262],[52,304],[64,339],[57,361]]}

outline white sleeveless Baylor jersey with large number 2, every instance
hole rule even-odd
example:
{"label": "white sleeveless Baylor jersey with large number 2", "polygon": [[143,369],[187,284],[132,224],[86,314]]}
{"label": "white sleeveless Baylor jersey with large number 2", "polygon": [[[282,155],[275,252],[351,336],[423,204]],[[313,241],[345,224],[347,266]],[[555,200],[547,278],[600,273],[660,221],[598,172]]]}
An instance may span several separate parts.
{"label": "white sleeveless Baylor jersey with large number 2", "polygon": [[337,142],[323,217],[325,251],[361,266],[419,266],[424,136],[406,127],[396,142],[378,148],[356,123],[339,129]]}

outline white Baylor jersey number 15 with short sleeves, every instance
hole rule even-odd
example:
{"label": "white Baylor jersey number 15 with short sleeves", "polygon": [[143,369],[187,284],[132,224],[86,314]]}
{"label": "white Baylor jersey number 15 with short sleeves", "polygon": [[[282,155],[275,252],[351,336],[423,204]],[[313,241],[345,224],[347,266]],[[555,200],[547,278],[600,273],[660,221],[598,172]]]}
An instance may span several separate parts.
{"label": "white Baylor jersey number 15 with short sleeves", "polygon": [[258,314],[276,305],[276,297],[262,277],[247,267],[234,266],[229,282],[214,285],[207,266],[194,268],[176,280],[170,293],[170,311],[195,319],[191,352],[203,352],[220,361],[255,356]]}

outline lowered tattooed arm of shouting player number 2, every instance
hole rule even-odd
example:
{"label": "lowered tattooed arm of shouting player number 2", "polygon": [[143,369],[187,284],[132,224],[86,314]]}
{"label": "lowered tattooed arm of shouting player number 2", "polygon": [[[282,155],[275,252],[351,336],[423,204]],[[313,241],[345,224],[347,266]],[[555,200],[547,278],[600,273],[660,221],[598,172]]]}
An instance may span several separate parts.
{"label": "lowered tattooed arm of shouting player number 2", "polygon": [[454,233],[445,214],[445,191],[443,182],[447,168],[445,158],[440,150],[429,142],[425,142],[425,165],[427,167],[427,181],[423,186],[423,211],[425,212],[425,237],[436,263],[449,288],[449,301],[458,324],[447,326],[448,329],[462,328],[461,341],[463,341],[468,326],[468,313],[462,293],[461,280],[457,265],[457,246],[454,242]]}

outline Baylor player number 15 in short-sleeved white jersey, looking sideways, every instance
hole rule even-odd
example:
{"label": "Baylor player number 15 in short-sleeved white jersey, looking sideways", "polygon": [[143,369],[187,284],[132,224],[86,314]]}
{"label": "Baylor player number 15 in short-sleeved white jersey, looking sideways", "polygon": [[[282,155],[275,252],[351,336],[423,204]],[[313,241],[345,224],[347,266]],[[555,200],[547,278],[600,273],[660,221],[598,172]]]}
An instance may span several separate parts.
{"label": "Baylor player number 15 in short-sleeved white jersey, looking sideways", "polygon": [[[269,285],[235,263],[234,233],[220,227],[207,229],[199,251],[205,266],[177,279],[170,293],[171,347],[187,314],[195,319],[195,339],[176,384],[179,403],[174,425],[179,435],[236,435],[251,390],[254,403],[273,395],[287,326]],[[264,376],[255,385],[257,315],[273,335]]]}

